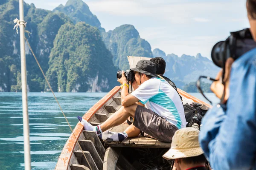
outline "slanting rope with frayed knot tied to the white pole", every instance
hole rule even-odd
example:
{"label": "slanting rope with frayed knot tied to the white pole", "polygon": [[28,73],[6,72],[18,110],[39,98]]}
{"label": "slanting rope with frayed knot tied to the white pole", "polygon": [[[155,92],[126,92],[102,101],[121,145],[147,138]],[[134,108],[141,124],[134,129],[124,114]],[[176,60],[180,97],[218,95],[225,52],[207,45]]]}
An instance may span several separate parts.
{"label": "slanting rope with frayed knot tied to the white pole", "polygon": [[[26,26],[25,21],[20,21],[20,20],[18,20],[17,18],[14,20],[14,22],[17,23],[17,24],[15,25],[16,30],[17,30],[17,27],[20,26],[21,24],[23,24],[24,26]],[[22,23],[20,23],[20,22],[22,22]],[[13,29],[15,29],[15,27],[14,27]],[[17,34],[18,34],[18,31],[17,31]],[[31,33],[30,33],[30,34],[31,34]],[[54,96],[56,102],[58,103],[58,106],[59,106],[59,108],[61,109],[61,112],[62,112],[64,118],[66,119],[66,122],[67,122],[68,126],[70,127],[71,133],[72,133],[72,134],[74,135],[74,137],[76,138],[76,135],[75,135],[75,133],[73,132],[73,129],[72,129],[72,127],[70,126],[70,123],[68,122],[67,117],[66,117],[65,113],[63,112],[63,110],[62,110],[62,108],[61,108],[61,105],[59,104],[58,99],[56,98],[56,96],[55,96],[55,94],[54,94],[54,92],[53,92],[53,90],[52,90],[52,87],[50,86],[50,84],[49,84],[49,82],[48,82],[48,79],[47,79],[47,77],[45,76],[44,71],[43,71],[43,69],[41,68],[41,65],[39,64],[38,59],[35,57],[35,54],[34,54],[32,48],[31,48],[31,46],[30,46],[30,44],[29,44],[29,41],[26,39],[26,37],[25,37],[25,40],[26,40],[27,44],[29,45],[29,49],[30,49],[30,51],[32,52],[32,54],[33,54],[33,56],[34,56],[34,58],[35,58],[35,61],[37,62],[38,67],[40,68],[42,74],[44,75],[44,78],[45,78],[45,80],[46,80],[46,82],[47,82],[47,84],[48,84],[50,90],[52,91],[52,94],[53,94],[53,96]],[[81,145],[79,144],[77,138],[76,138],[76,142],[77,142],[77,144],[79,145],[79,148],[82,150]],[[83,155],[84,155],[84,158],[85,158],[86,161],[88,162],[88,164],[89,164],[89,166],[90,166],[90,169],[92,170],[92,167],[91,167],[91,165],[90,165],[90,163],[89,163],[87,157],[85,156],[84,152],[82,152],[82,153],[83,153]]]}

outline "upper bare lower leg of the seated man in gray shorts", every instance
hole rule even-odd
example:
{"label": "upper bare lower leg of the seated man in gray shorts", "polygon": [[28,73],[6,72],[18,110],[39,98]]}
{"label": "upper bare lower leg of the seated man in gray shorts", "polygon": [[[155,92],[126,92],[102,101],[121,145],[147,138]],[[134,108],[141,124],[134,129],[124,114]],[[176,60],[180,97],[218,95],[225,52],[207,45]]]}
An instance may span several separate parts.
{"label": "upper bare lower leg of the seated man in gray shorts", "polygon": [[122,106],[100,125],[102,132],[110,129],[111,127],[121,125],[126,119],[128,119],[129,116],[134,117],[137,106],[137,104],[133,104],[128,107]]}

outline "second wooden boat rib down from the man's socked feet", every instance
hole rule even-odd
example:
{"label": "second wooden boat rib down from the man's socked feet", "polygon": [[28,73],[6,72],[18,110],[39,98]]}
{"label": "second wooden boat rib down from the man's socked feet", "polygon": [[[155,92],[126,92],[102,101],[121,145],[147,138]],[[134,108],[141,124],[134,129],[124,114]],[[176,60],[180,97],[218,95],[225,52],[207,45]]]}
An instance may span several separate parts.
{"label": "second wooden boat rib down from the man's socked feet", "polygon": [[99,156],[94,144],[90,140],[79,140],[82,150],[90,152],[99,170],[102,170],[103,161]]}

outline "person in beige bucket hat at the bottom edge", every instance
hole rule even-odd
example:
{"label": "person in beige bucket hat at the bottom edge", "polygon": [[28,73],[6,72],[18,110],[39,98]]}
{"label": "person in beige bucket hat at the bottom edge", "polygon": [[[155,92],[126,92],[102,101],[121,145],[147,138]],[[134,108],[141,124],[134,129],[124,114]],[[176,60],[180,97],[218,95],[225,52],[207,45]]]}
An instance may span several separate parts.
{"label": "person in beige bucket hat at the bottom edge", "polygon": [[163,155],[164,159],[173,159],[172,170],[207,170],[207,159],[198,142],[199,130],[186,127],[177,130],[172,137],[171,148]]}

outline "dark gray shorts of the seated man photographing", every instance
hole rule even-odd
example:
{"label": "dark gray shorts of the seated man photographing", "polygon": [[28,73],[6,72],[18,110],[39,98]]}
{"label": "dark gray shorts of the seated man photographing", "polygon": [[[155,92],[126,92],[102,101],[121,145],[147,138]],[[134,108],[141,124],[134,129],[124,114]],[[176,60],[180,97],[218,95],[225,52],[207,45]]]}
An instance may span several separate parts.
{"label": "dark gray shorts of the seated man photographing", "polygon": [[163,142],[172,142],[172,136],[178,130],[175,125],[141,105],[136,108],[133,125]]}

